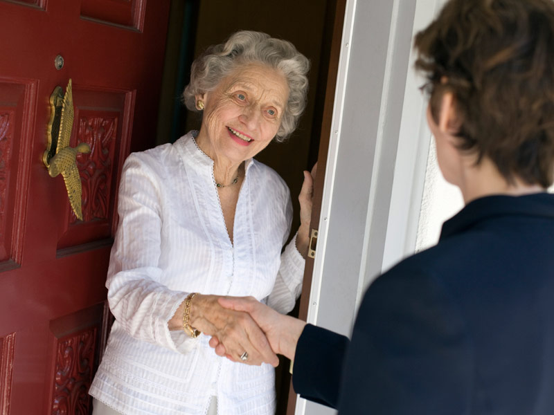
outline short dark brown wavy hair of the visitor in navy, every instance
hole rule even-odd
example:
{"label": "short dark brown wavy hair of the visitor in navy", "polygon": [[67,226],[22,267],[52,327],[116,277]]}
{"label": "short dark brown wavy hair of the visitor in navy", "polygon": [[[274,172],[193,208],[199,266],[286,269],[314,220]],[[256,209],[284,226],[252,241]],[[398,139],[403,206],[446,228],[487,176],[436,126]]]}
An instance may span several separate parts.
{"label": "short dark brown wavy hair of the visitor in navy", "polygon": [[454,95],[459,148],[508,183],[554,180],[554,1],[451,0],[415,37],[431,116]]}

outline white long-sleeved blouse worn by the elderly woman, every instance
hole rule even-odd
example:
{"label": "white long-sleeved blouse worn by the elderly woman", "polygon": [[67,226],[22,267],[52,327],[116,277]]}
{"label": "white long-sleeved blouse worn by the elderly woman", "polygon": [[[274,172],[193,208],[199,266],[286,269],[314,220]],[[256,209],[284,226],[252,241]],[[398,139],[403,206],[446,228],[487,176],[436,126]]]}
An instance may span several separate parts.
{"label": "white long-sleeved blouse worn by the elderly woman", "polygon": [[304,259],[290,193],[250,159],[227,233],[213,161],[192,131],[175,144],[131,154],[119,188],[119,226],[106,286],[116,321],[89,393],[122,414],[273,415],[274,369],[220,358],[209,337],[169,331],[188,293],[253,295],[287,313],[300,295]]}

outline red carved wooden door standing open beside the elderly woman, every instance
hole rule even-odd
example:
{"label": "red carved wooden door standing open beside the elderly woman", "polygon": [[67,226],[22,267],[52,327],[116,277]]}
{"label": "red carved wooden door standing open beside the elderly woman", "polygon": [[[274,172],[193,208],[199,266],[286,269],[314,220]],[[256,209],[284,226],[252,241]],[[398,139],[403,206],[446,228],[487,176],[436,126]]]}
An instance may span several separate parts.
{"label": "red carved wooden door standing open beside the elderly woman", "polygon": [[[0,0],[0,414],[87,414],[120,167],[152,147],[169,0]],[[60,55],[64,65],[58,69]],[[60,62],[58,58],[58,62]],[[46,149],[73,80],[83,220]]]}

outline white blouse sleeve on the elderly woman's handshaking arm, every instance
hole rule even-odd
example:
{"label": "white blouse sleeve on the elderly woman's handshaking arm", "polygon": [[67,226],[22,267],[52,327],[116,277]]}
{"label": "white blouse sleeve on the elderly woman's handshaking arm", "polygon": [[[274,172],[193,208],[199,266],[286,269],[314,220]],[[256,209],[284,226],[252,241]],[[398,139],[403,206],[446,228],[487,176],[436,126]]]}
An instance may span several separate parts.
{"label": "white blouse sleeve on the elderly woman's handshaking arm", "polygon": [[133,338],[186,353],[197,340],[170,332],[168,321],[188,293],[161,283],[160,177],[139,156],[125,161],[119,188],[119,225],[106,286],[111,313]]}

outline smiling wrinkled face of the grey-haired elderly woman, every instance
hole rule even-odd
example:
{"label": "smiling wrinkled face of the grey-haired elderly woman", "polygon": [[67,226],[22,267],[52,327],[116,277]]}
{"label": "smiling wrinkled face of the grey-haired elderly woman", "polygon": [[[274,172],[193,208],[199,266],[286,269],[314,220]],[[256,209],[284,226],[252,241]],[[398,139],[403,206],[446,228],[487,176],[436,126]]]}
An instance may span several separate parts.
{"label": "smiling wrinkled face of the grey-haired elderly woman", "polygon": [[261,64],[235,69],[204,101],[197,143],[215,161],[237,165],[265,149],[276,136],[289,98],[285,77]]}

